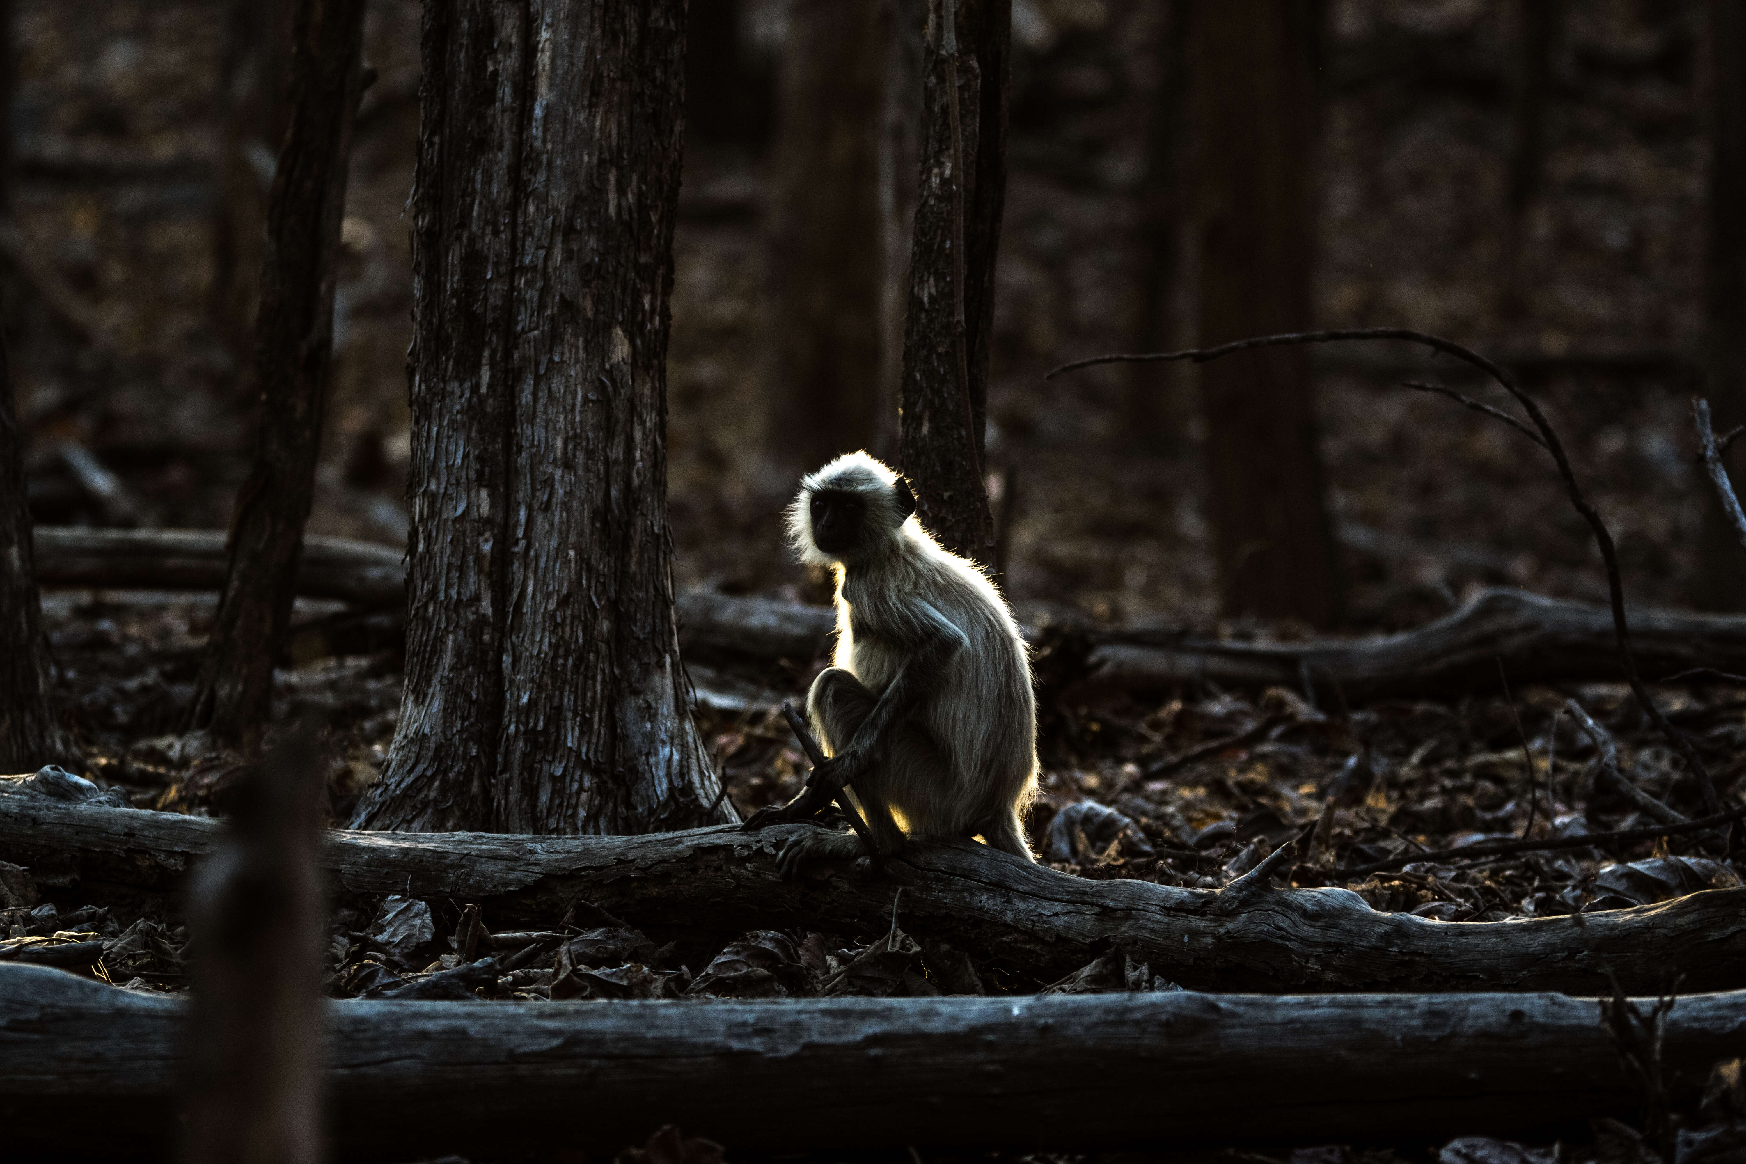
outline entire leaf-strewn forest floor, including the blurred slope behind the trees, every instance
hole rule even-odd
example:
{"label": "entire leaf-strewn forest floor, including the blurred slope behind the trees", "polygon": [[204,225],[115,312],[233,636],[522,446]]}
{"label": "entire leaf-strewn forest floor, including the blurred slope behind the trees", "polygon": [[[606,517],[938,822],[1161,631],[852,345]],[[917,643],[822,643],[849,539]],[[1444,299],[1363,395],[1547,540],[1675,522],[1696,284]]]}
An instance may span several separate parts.
{"label": "entire leaf-strewn forest floor, including the blurred slope behind the trees", "polygon": [[[220,5],[16,7],[26,262],[5,276],[16,305],[7,330],[33,442],[37,517],[223,527],[246,469],[248,377],[206,316],[213,202],[201,168],[210,169],[217,141],[210,79]],[[1037,628],[1093,620],[1301,637],[1303,627],[1219,616],[1191,377],[1159,384],[1175,421],[1166,433],[1140,435],[1147,440],[1128,431],[1131,382],[1119,370],[1042,380],[1065,359],[1126,349],[1135,330],[1131,237],[1156,84],[1151,7],[1028,5],[1042,23],[1027,26],[1016,66],[990,386],[990,468],[1018,497],[1004,585]],[[1688,419],[1701,319],[1699,5],[1570,5],[1543,180],[1531,208],[1503,225],[1503,5],[1330,7],[1318,321],[1442,332],[1521,366],[1619,539],[1627,599],[1690,604],[1704,581],[1695,551],[1704,483]],[[381,80],[353,161],[332,424],[311,520],[313,532],[389,544],[403,541],[407,520],[410,258],[400,213],[417,131],[417,12],[416,0],[372,0],[367,56]],[[693,143],[684,183],[669,365],[679,583],[828,600],[819,579],[787,560],[779,506],[789,483],[763,469],[760,351],[772,326],[763,161],[756,148]],[[1351,583],[1346,630],[1418,625],[1486,585],[1605,597],[1589,534],[1543,459],[1491,421],[1392,387],[1444,368],[1395,351],[1318,361],[1330,508]],[[126,504],[80,483],[68,445],[113,471]],[[300,602],[299,618],[328,609]],[[197,761],[180,733],[211,597],[63,592],[45,595],[45,614],[56,695],[87,775],[138,806],[222,811],[237,771]],[[772,703],[803,689],[805,663],[744,675],[765,691],[749,712],[698,709],[744,813],[800,787],[805,763]],[[391,653],[279,672],[278,710],[313,709],[328,724],[330,820],[379,777],[400,681]],[[1723,799],[1739,803],[1746,682],[1669,686],[1657,698],[1697,740]],[[1702,811],[1667,742],[1613,684],[1507,696],[1500,682],[1458,702],[1362,707],[1329,693],[1203,688],[1044,707],[1032,843],[1049,864],[1086,878],[1215,887],[1316,820],[1325,822],[1315,834],[1325,860],[1306,862],[1306,880],[1409,848],[1646,822],[1596,787],[1598,749],[1566,700],[1617,738],[1620,768],[1638,787],[1685,815]],[[1241,742],[1145,775],[1217,740]],[[1460,925],[1662,900],[1743,876],[1736,839],[1729,852],[1674,841],[1426,860],[1350,887],[1378,909]],[[7,911],[0,935],[86,927],[124,939],[105,963],[117,984],[182,988],[185,932],[173,911],[82,909],[77,892],[61,890],[45,897]],[[452,902],[339,906],[327,960],[335,996],[381,993],[457,956]],[[740,989],[726,967],[760,960],[798,967],[784,989],[808,993],[878,935],[756,932],[725,944],[721,967],[669,965],[637,937],[597,934],[592,963],[562,969],[545,965],[555,958],[546,955],[499,993],[723,996]],[[1011,991],[1062,986],[1006,974],[985,981]],[[889,976],[882,989],[936,986],[917,969]],[[1608,1134],[1516,1155],[1449,1145],[1442,1159],[1633,1159]],[[1426,1145],[1304,1145],[1290,1164],[1432,1157],[1437,1148]]]}

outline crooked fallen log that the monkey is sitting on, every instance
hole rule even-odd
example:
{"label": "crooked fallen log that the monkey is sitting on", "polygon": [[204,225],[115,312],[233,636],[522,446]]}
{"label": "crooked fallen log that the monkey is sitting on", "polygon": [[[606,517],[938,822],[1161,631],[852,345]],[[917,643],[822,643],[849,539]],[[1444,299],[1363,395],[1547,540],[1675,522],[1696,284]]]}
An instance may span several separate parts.
{"label": "crooked fallen log that the monkey is sitting on", "polygon": [[[52,799],[0,778],[0,860],[38,883],[107,894],[176,892],[211,852],[213,820]],[[976,843],[915,845],[885,876],[821,869],[786,883],[773,860],[793,829],[653,836],[328,832],[335,895],[407,894],[480,902],[491,928],[540,928],[578,904],[606,909],[681,955],[761,927],[883,934],[903,888],[903,928],[945,937],[1037,983],[1121,948],[1191,989],[1599,993],[1608,972],[1653,993],[1746,986],[1746,888],[1655,906],[1526,921],[1433,921],[1378,913],[1341,888],[1187,890],[1088,881]]]}

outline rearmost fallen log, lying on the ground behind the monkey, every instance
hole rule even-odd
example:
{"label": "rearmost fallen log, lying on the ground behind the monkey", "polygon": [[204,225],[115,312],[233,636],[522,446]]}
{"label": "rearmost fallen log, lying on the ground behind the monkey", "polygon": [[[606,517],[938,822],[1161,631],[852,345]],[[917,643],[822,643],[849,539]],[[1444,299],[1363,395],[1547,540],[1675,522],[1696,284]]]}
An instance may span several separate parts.
{"label": "rearmost fallen log, lying on the ground behind the monkey", "polygon": [[[309,537],[299,593],[365,609],[405,606],[402,555],[389,546]],[[37,527],[44,586],[217,590],[223,532]],[[679,644],[688,660],[807,665],[829,649],[829,607],[688,590]],[[402,630],[403,633],[403,630]],[[1746,672],[1746,618],[1633,609],[1639,670],[1666,679],[1694,668]],[[1514,684],[1617,681],[1612,613],[1571,602],[1486,590],[1461,609],[1414,630],[1372,639],[1226,642],[1149,630],[1069,633],[1053,644],[1046,677],[1063,693],[1222,688],[1310,688],[1323,700],[1437,696],[1491,691],[1498,663]]]}

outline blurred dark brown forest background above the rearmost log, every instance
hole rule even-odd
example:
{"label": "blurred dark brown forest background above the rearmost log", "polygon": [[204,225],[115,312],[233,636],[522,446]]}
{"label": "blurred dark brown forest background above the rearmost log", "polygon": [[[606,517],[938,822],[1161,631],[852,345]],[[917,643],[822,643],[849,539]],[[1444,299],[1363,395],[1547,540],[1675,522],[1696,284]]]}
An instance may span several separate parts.
{"label": "blurred dark brown forest background above the rearmost log", "polygon": [[[7,335],[35,517],[220,529],[246,475],[248,248],[274,115],[260,89],[271,37],[248,12],[271,5],[12,7]],[[840,5],[842,19],[854,9]],[[854,91],[842,92],[856,84],[856,44],[808,28],[819,17],[807,12],[782,0],[691,5],[670,506],[681,585],[828,600],[787,562],[777,506],[812,468],[798,455],[829,448],[829,435],[784,421],[772,400],[800,375],[791,347],[807,302],[833,293],[805,279],[876,269],[880,255],[863,237],[856,258],[845,227],[843,255],[794,257],[793,199],[828,197],[843,166],[876,166],[864,150],[833,171],[817,150],[784,147],[821,103],[849,101],[856,115]],[[1704,5],[1337,0],[1318,16],[1306,45],[1313,323],[1421,328],[1519,368],[1613,525],[1631,600],[1716,604],[1688,419],[1706,366]],[[412,0],[370,5],[365,59],[379,80],[356,126],[309,522],[313,534],[391,544],[407,527],[417,24]],[[1198,166],[1208,148],[1254,143],[1196,140],[1172,5],[1020,0],[1013,33],[988,387],[997,513],[1011,501],[999,513],[1006,586],[1034,623],[1079,613],[1210,628],[1220,592],[1194,370],[1042,373],[1194,340]],[[835,49],[819,47],[833,37]],[[812,61],[847,56],[796,75],[803,49]],[[871,124],[878,110],[863,115]],[[880,209],[836,213],[876,225]],[[857,354],[878,351],[866,286],[863,270],[861,291],[835,293],[861,295],[873,339],[857,349],[850,335],[814,361],[824,382],[892,400],[896,370],[875,359],[870,372]],[[1404,349],[1322,349],[1310,366],[1343,625],[1419,623],[1484,585],[1603,599],[1550,468],[1493,422],[1392,387],[1453,377],[1447,366]],[[1718,410],[1722,428],[1736,422],[1725,396]],[[875,424],[875,452],[890,454],[880,442],[894,443],[896,426]],[[80,478],[80,452],[117,478],[120,503]]]}

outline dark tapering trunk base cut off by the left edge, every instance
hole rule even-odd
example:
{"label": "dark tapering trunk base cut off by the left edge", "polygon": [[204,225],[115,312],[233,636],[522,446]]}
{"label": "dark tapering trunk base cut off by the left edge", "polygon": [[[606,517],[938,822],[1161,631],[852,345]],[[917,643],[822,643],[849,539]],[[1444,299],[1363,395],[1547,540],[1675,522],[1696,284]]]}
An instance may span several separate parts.
{"label": "dark tapering trunk base cut off by the left edge", "polygon": [[49,640],[42,633],[30,537],[24,438],[0,335],[0,768],[35,771],[66,759],[66,749],[49,705]]}

